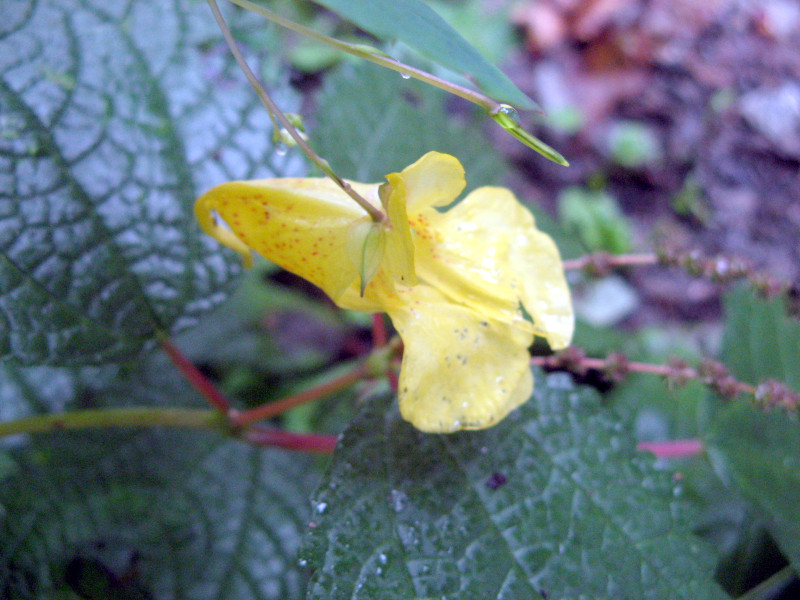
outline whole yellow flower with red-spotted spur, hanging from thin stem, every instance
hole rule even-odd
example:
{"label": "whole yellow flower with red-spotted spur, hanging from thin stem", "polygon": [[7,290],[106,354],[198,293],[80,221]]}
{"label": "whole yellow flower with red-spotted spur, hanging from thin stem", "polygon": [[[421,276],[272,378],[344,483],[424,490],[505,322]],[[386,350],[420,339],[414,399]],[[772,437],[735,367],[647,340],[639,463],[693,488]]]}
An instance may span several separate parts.
{"label": "whole yellow flower with red-spotted spur, hanging from thin stem", "polygon": [[553,349],[572,337],[558,250],[507,189],[441,210],[465,185],[452,156],[430,152],[386,180],[351,184],[383,223],[328,179],[226,183],[195,214],[245,264],[255,250],[342,308],[388,313],[404,344],[400,412],[415,427],[494,425],[531,395],[534,336]]}

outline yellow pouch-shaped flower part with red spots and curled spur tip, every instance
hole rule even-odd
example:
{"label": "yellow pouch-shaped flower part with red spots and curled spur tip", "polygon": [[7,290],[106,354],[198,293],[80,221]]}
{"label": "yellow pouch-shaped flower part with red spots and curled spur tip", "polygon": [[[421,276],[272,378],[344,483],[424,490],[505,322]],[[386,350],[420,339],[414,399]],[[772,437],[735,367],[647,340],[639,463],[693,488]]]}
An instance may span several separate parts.
{"label": "yellow pouch-shaped flower part with red spots and curled spur tip", "polygon": [[[354,187],[377,200],[377,186]],[[203,228],[220,242],[243,253],[252,248],[334,301],[358,285],[347,239],[366,212],[328,179],[234,181],[208,191],[195,206]],[[212,211],[230,231],[212,226]]]}

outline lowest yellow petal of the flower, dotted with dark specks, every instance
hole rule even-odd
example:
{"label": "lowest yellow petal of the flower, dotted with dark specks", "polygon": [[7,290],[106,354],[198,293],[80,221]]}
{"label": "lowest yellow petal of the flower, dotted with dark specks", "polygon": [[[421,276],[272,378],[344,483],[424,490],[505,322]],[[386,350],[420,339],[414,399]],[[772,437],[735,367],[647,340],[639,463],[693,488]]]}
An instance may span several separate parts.
{"label": "lowest yellow petal of the flower, dotted with dark specks", "polygon": [[400,412],[417,429],[449,433],[490,427],[533,390],[532,334],[453,304],[420,284],[389,315],[405,346]]}

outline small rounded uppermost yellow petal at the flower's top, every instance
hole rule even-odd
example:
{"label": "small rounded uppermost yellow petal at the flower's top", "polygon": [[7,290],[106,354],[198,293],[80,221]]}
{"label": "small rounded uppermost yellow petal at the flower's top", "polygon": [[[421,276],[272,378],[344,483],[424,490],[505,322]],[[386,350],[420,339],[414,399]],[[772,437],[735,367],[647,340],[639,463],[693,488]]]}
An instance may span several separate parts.
{"label": "small rounded uppermost yellow petal at the flower's top", "polygon": [[400,173],[411,215],[431,206],[446,206],[464,190],[464,167],[449,154],[428,152]]}

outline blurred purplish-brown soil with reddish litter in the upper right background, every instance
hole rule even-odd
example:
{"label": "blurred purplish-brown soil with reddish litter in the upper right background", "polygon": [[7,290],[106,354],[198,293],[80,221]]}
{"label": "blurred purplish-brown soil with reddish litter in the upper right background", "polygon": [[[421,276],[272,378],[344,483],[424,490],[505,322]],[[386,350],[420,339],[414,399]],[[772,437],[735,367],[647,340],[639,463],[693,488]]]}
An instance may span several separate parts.
{"label": "blurred purplish-brown soil with reddish litter in the upper right background", "polygon": [[[567,169],[498,138],[522,195],[555,212],[560,190],[599,176],[634,225],[637,249],[668,241],[741,256],[798,281],[795,2],[549,0],[523,5],[515,18],[528,47],[512,78],[548,115],[570,106],[583,115],[576,131],[538,132],[567,156]],[[638,167],[619,165],[609,149],[613,129],[630,121],[646,125],[660,146]],[[683,214],[674,207],[682,190],[693,192]],[[648,307],[645,321],[719,314],[719,290],[708,282],[664,269],[629,278]]]}

